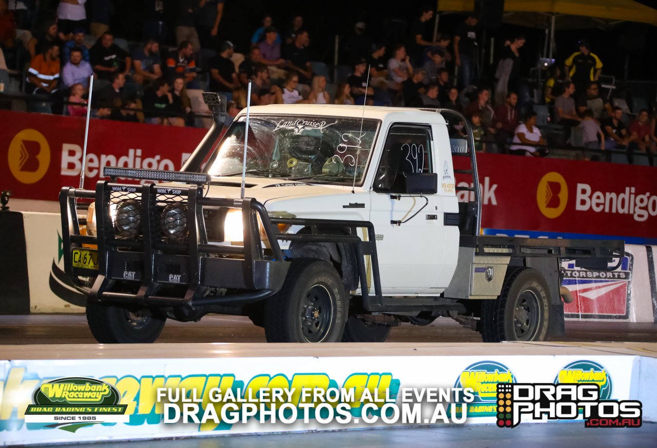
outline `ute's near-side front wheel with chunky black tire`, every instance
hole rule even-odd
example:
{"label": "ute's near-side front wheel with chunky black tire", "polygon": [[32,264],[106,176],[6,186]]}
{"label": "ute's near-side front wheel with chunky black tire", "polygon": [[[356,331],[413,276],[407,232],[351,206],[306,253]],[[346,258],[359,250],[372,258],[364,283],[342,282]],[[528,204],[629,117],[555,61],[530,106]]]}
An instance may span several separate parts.
{"label": "ute's near-side front wheel with chunky black tire", "polygon": [[340,342],[349,308],[342,279],[323,260],[299,258],[266,300],[267,342]]}

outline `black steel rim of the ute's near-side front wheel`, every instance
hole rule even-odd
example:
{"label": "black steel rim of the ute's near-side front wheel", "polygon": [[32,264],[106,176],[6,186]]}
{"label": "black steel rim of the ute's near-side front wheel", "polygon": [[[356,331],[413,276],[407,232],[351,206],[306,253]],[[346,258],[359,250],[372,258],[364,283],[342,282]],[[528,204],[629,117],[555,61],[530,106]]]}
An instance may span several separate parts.
{"label": "black steel rim of the ute's near-side front wheel", "polygon": [[330,292],[323,285],[313,285],[301,306],[301,331],[308,342],[322,342],[333,321]]}

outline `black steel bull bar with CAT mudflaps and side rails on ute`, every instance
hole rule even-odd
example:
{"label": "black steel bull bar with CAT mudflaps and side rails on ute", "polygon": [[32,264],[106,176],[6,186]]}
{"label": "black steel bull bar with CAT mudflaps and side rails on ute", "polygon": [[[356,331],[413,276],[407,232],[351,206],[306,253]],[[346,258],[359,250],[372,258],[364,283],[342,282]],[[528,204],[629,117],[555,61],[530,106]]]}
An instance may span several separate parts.
{"label": "black steel bull bar with CAT mudflaps and side rails on ute", "polygon": [[[78,199],[95,200],[96,235],[81,234]],[[110,204],[121,200],[139,204],[139,237],[125,237],[115,230]],[[162,187],[99,181],[95,191],[64,187],[59,201],[64,269],[90,300],[158,306],[232,306],[255,302],[277,293],[283,286],[290,263],[284,260],[279,239],[353,244],[363,298],[367,298],[369,289],[365,255],[372,258],[374,292],[377,299],[381,297],[376,237],[371,222],[273,218],[254,198],[203,197],[200,186]],[[166,203],[185,206],[187,235],[184,239],[170,241],[163,237],[160,213]],[[241,246],[217,244],[223,241],[223,218],[228,209],[242,212],[244,242]],[[204,210],[222,216],[220,241],[208,241]],[[306,226],[310,233],[282,234],[277,224]],[[347,230],[347,234],[326,232],[338,228]],[[357,228],[367,228],[369,241],[357,236]],[[98,270],[73,266],[74,249],[93,245],[97,246]],[[95,280],[89,286],[81,283],[79,277],[95,277]],[[132,286],[132,291],[126,293],[122,285]],[[137,285],[139,289],[134,293]],[[163,285],[187,285],[187,289],[184,295],[158,294]],[[209,289],[225,289],[225,294],[208,295]]]}

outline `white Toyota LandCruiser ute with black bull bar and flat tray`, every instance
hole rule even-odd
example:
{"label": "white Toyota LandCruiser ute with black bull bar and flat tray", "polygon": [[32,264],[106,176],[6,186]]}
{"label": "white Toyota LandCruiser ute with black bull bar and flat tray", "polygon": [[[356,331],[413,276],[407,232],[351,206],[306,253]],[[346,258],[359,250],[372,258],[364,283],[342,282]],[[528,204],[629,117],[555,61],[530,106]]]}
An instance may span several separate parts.
{"label": "white Toyota LandCruiser ute with black bull bar and flat tray", "polygon": [[215,123],[180,172],[106,167],[95,190],[60,192],[66,272],[99,342],[208,313],[248,316],[269,342],[381,342],[438,316],[486,342],[545,340],[572,300],[561,260],[622,257],[622,241],[480,235],[457,112],[258,106],[223,129],[225,103],[204,95]]}

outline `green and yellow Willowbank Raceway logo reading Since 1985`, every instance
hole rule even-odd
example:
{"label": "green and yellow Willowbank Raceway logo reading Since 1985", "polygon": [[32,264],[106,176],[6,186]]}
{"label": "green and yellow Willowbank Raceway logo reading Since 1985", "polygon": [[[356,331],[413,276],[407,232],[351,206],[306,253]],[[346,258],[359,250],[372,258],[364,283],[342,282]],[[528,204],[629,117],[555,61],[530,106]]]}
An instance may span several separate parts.
{"label": "green and yellow Willowbank Raceway logo reading Since 1985", "polygon": [[43,382],[34,390],[25,411],[26,423],[47,423],[47,428],[76,432],[99,423],[128,422],[127,405],[118,390],[104,381],[65,377]]}

